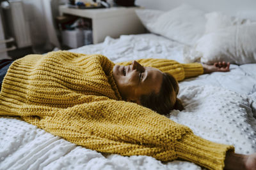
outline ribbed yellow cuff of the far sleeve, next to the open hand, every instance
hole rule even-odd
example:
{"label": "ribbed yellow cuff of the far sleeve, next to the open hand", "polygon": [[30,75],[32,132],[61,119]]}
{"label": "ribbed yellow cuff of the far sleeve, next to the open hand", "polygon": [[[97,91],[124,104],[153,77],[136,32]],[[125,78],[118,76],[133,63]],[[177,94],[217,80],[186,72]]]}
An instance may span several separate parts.
{"label": "ribbed yellow cuff of the far sleeve, next to the open hand", "polygon": [[202,66],[202,64],[197,62],[182,64],[182,67],[185,72],[185,78],[195,77],[204,74],[204,67]]}

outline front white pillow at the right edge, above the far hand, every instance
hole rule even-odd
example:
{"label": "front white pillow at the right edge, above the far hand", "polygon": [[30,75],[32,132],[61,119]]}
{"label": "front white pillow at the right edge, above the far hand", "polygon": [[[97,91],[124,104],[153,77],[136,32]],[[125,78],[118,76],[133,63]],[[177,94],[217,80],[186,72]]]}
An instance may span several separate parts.
{"label": "front white pillow at the right edge, above the far hand", "polygon": [[184,51],[184,60],[212,64],[226,61],[232,64],[256,62],[256,23],[234,25],[205,34],[189,52]]}

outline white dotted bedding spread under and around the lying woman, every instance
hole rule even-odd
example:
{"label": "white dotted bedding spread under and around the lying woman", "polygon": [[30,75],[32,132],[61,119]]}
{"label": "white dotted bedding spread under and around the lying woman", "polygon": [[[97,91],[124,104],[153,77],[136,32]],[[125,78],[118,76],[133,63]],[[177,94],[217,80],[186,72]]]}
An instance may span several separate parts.
{"label": "white dotted bedding spread under and around the lying woman", "polygon": [[[113,62],[141,58],[183,61],[183,45],[154,34],[106,38],[71,50],[102,53]],[[169,118],[198,136],[256,152],[256,64],[231,65],[228,73],[203,74],[180,83],[185,110]],[[150,120],[149,120],[150,121]],[[10,117],[0,118],[0,169],[201,169],[190,162],[162,163],[152,157],[102,155]]]}

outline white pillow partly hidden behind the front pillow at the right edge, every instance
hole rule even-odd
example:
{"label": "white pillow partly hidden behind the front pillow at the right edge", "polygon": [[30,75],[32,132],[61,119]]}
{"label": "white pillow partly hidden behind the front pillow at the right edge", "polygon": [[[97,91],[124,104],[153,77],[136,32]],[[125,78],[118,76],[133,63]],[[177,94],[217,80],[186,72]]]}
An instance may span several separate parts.
{"label": "white pillow partly hidden behind the front pillow at the right edge", "polygon": [[229,17],[217,11],[205,14],[205,18],[205,34],[225,27],[230,27],[232,25],[250,24],[250,20],[237,17]]}

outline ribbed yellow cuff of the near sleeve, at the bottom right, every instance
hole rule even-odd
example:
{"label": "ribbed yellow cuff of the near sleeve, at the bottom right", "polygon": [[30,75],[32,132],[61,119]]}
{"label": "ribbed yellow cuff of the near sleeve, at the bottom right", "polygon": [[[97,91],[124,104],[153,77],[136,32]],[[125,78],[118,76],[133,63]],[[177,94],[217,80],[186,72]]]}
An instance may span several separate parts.
{"label": "ribbed yellow cuff of the near sleeve, at the bottom right", "polygon": [[234,146],[207,141],[187,134],[176,142],[175,150],[179,159],[194,162],[208,169],[223,169],[228,151],[234,152]]}

